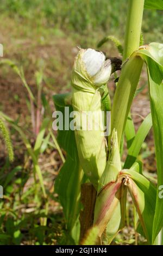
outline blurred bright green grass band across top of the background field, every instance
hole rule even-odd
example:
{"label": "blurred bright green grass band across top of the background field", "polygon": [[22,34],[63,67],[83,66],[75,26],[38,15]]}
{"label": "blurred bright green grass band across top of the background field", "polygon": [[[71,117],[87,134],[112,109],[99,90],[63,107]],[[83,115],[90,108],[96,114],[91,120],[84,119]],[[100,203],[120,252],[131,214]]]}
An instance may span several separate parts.
{"label": "blurred bright green grass band across top of the background field", "polygon": [[[159,0],[158,7],[161,2],[162,0]],[[145,7],[150,5],[155,5],[154,1],[146,0]],[[104,31],[122,37],[127,4],[124,0],[1,0],[0,10],[12,18],[34,20],[41,25],[46,21],[47,26],[64,31],[79,34]],[[152,36],[152,40],[159,38],[160,25],[163,22],[161,13],[145,10],[144,21],[143,30],[145,29],[146,33],[153,31],[153,35],[148,36]],[[146,35],[145,38],[147,39]]]}

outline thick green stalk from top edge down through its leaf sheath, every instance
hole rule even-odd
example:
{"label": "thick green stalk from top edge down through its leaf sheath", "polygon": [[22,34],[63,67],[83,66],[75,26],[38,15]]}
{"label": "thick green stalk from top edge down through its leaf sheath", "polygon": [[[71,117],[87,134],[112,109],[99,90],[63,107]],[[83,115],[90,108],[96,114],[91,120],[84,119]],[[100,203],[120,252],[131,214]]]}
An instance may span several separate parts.
{"label": "thick green stalk from top edge down through its leaf sheath", "polygon": [[[129,0],[123,60],[139,48],[144,0]],[[139,82],[143,60],[132,56],[123,65],[111,112],[111,132],[115,128],[118,145],[126,126],[127,117]]]}

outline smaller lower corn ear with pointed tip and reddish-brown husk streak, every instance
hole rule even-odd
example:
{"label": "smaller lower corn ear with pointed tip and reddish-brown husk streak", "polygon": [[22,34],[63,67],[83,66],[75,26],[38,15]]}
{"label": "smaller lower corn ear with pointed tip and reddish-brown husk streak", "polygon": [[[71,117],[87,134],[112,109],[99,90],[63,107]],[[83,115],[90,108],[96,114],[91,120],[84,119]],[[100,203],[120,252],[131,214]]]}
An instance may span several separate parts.
{"label": "smaller lower corn ear with pointed tip and reddish-brown husk streak", "polygon": [[[98,227],[101,238],[104,230],[106,244],[110,244],[121,224],[122,176],[121,157],[118,147],[117,132],[112,131],[109,160],[99,181],[95,205],[94,225]],[[124,201],[123,204],[126,202]]]}

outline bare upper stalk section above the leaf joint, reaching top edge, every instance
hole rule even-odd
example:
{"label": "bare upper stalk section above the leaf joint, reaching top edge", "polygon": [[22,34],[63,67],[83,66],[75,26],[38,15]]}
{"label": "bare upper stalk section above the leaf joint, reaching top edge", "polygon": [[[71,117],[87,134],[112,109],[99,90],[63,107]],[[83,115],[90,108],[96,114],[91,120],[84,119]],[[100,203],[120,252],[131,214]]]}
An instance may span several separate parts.
{"label": "bare upper stalk section above the leaf joint, reaching top edge", "polygon": [[139,48],[145,0],[129,0],[123,60]]}

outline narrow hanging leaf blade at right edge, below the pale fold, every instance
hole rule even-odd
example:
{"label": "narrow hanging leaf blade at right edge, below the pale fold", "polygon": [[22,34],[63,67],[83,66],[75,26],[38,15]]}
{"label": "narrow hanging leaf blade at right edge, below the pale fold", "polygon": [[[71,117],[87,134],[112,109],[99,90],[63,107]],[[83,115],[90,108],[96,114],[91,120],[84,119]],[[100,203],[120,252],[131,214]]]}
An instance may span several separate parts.
{"label": "narrow hanging leaf blade at right edge, below the pale fold", "polygon": [[[163,84],[159,86],[153,81],[153,78],[150,76],[150,67],[148,66],[148,75],[149,75],[149,89],[150,89],[150,100],[151,100],[151,112],[153,119],[153,129],[154,129],[154,141],[155,141],[155,153],[157,161],[157,172],[158,172],[158,188],[163,184],[163,106],[159,102],[163,99]],[[156,70],[155,70],[156,71]],[[162,69],[163,71],[163,69]],[[163,78],[163,72],[162,72]],[[162,79],[161,78],[161,79]],[[158,190],[159,193],[159,190]],[[163,227],[163,200],[159,198],[159,194],[156,200],[156,211],[154,218],[154,230],[153,230],[153,242],[155,237],[158,235],[159,231]]]}

